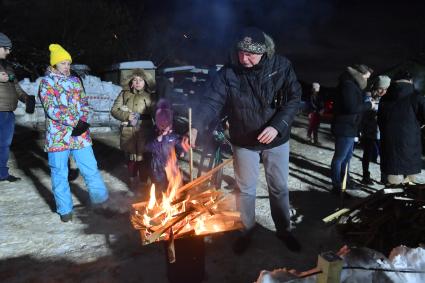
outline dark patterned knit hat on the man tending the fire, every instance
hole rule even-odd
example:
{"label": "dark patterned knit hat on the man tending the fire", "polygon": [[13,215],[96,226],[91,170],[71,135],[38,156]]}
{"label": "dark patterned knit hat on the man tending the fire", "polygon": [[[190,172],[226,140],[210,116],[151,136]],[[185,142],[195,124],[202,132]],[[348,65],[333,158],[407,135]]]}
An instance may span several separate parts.
{"label": "dark patterned knit hat on the man tending the fire", "polygon": [[238,37],[237,48],[254,54],[266,52],[266,38],[264,33],[255,27],[244,28]]}

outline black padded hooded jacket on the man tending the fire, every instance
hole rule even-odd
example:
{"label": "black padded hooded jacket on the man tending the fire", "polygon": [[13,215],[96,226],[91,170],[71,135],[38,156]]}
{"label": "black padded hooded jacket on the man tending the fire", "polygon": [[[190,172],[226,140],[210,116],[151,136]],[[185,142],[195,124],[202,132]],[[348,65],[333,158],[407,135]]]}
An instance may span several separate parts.
{"label": "black padded hooded jacket on the man tending the fire", "polygon": [[[232,144],[262,150],[289,140],[291,124],[298,112],[301,87],[291,62],[274,53],[274,42],[266,36],[267,52],[252,68],[244,68],[234,50],[209,85],[194,118],[194,128],[202,130],[224,110],[229,117]],[[270,144],[258,135],[268,126],[278,131]]]}

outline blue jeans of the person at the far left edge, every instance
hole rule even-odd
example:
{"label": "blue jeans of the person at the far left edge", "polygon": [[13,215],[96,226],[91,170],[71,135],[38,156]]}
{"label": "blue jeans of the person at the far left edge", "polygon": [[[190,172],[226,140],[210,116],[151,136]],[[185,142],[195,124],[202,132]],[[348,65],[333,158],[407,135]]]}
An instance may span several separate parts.
{"label": "blue jeans of the person at the far left edge", "polygon": [[15,114],[13,112],[0,112],[0,179],[9,177],[10,145],[12,144],[13,133],[15,131]]}

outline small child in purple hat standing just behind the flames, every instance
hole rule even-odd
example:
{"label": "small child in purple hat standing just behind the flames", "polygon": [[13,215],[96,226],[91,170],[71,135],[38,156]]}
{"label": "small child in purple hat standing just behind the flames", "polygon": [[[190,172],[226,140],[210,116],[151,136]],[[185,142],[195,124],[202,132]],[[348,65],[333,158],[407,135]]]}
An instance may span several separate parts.
{"label": "small child in purple hat standing just behind the flames", "polygon": [[[155,137],[148,142],[146,150],[152,153],[151,178],[156,185],[157,191],[165,192],[168,186],[165,167],[171,160],[173,151],[176,157],[181,156],[189,150],[187,140],[173,131],[173,111],[171,104],[161,99],[158,101],[155,111]],[[173,169],[178,169],[177,159],[175,159]]]}

